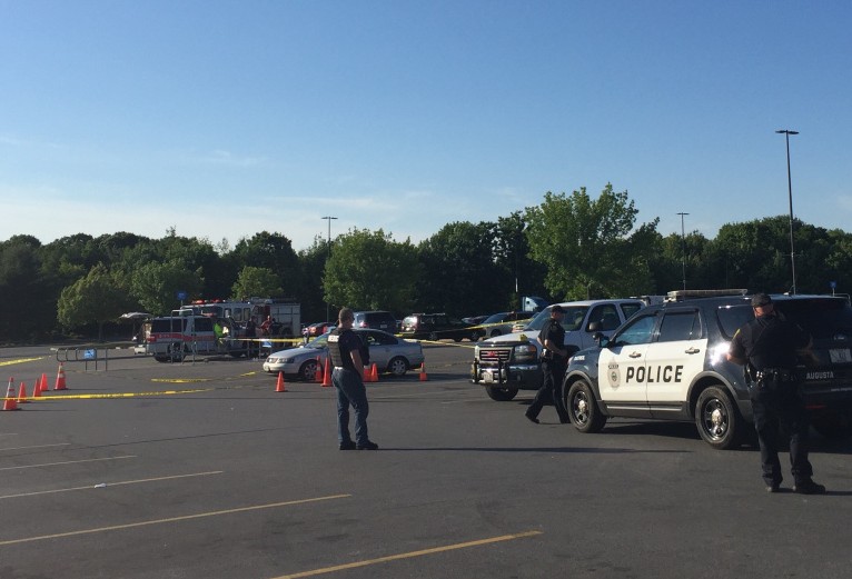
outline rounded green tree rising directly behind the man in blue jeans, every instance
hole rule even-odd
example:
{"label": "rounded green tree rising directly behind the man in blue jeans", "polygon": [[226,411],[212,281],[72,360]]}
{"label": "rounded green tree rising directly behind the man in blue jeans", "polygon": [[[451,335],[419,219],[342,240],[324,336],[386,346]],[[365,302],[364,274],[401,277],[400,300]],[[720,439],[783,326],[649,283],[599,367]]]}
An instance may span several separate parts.
{"label": "rounded green tree rising directly behind the man in blue jeans", "polygon": [[323,274],[325,300],[335,308],[407,312],[413,305],[417,257],[409,240],[383,230],[353,229],[335,240]]}

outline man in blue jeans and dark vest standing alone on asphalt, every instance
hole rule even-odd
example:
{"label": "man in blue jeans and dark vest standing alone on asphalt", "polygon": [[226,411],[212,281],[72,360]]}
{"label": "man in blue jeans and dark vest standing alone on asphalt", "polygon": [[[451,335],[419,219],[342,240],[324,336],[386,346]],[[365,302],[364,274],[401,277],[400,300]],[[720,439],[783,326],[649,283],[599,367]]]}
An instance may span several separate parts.
{"label": "man in blue jeans and dark vest standing alone on asphalt", "polygon": [[[355,315],[343,308],[337,328],[328,336],[328,353],[334,365],[331,383],[337,390],[337,439],[340,450],[378,450],[367,437],[367,389],[364,387],[364,343],[351,329]],[[349,406],[355,409],[355,442],[349,436]]]}

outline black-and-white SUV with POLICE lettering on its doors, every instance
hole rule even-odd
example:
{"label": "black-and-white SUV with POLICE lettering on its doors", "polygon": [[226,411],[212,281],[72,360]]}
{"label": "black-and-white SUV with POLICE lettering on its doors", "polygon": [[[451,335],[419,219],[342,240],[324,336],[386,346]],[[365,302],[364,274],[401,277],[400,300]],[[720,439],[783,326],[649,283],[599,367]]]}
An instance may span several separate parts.
{"label": "black-and-white SUV with POLICE lettering on its doors", "polygon": [[[684,290],[636,312],[598,347],[574,355],[565,372],[565,406],[581,432],[610,417],[694,421],[717,449],[737,447],[752,420],[743,367],[725,355],[734,332],[753,318],[746,290]],[[814,428],[850,433],[852,306],[831,296],[772,296],[775,310],[813,338],[799,372]]]}

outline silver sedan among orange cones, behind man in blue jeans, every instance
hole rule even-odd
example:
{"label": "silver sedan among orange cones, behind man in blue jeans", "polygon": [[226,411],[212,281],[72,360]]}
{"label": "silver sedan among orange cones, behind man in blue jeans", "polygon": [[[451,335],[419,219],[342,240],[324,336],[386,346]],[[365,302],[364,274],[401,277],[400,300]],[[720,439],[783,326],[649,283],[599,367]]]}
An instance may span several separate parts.
{"label": "silver sedan among orange cones, behind man in blue jeans", "polygon": [[[375,363],[379,372],[405,376],[409,369],[423,363],[423,347],[419,342],[403,340],[382,330],[354,328],[353,331],[369,347],[369,363]],[[327,359],[328,333],[324,333],[298,348],[270,353],[264,361],[264,371],[314,380],[317,365],[324,368]]]}

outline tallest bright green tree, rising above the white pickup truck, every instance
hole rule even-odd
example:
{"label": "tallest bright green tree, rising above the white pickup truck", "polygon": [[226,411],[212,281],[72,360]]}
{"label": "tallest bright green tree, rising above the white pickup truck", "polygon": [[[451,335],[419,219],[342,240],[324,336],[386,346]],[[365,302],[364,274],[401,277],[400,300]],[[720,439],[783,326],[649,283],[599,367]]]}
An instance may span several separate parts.
{"label": "tallest bright green tree, rising above the white pickup truck", "polygon": [[611,183],[595,200],[585,188],[571,196],[548,191],[541,206],[527,208],[531,256],[547,267],[552,295],[585,299],[650,292],[658,219],[634,230],[637,213],[627,191],[615,192]]}

